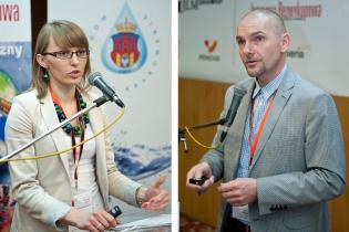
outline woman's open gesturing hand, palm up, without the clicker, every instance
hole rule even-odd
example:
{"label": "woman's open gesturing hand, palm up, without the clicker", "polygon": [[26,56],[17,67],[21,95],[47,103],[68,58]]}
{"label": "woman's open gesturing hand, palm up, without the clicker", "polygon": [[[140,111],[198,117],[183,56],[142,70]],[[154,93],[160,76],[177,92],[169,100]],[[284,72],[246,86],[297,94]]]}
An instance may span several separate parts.
{"label": "woman's open gesturing hand, palm up, without the clicker", "polygon": [[141,187],[137,200],[142,201],[142,209],[151,210],[155,212],[165,211],[168,205],[170,196],[167,191],[161,189],[166,180],[166,177],[160,176],[158,179],[153,182],[148,188]]}

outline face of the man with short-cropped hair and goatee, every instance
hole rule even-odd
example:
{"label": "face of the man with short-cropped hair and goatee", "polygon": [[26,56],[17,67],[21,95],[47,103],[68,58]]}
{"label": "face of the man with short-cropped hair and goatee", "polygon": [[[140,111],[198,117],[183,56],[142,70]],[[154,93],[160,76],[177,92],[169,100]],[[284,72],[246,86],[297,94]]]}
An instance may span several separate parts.
{"label": "face of the man with short-cropped hair and goatee", "polygon": [[236,42],[249,76],[270,80],[281,71],[286,52],[283,36],[276,34],[267,18],[247,17],[240,21]]}

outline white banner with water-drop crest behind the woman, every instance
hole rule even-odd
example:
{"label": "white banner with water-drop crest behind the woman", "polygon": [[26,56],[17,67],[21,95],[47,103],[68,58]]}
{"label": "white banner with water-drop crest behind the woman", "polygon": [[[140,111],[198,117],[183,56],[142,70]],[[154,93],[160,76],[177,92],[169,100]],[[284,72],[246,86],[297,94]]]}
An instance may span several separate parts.
{"label": "white banner with water-drop crest behind the woman", "polygon": [[49,0],[48,18],[84,30],[92,68],[125,104],[111,129],[119,169],[143,183],[162,172],[171,192],[171,1]]}

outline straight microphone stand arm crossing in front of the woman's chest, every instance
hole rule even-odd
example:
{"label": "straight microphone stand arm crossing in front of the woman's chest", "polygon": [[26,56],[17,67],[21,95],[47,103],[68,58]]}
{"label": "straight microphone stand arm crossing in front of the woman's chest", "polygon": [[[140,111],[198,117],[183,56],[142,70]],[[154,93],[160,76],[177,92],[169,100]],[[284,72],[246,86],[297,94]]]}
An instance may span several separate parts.
{"label": "straight microphone stand arm crossing in front of the woman's chest", "polygon": [[11,159],[13,156],[18,155],[19,152],[23,151],[24,149],[27,149],[28,147],[30,147],[31,145],[33,145],[34,143],[37,143],[38,140],[42,139],[43,137],[50,135],[51,133],[55,131],[57,129],[61,128],[62,126],[64,126],[65,124],[68,124],[69,122],[75,119],[76,117],[83,115],[86,112],[90,112],[92,108],[94,107],[99,107],[101,105],[103,105],[104,103],[106,103],[107,99],[105,96],[101,96],[100,98],[93,101],[93,105],[78,112],[76,114],[74,114],[73,116],[66,118],[65,120],[63,120],[62,123],[60,123],[59,125],[57,125],[55,127],[51,128],[50,130],[48,130],[47,133],[40,135],[39,137],[34,138],[32,141],[28,143],[27,145],[20,147],[19,149],[12,151],[11,154],[2,157],[0,159],[0,165],[2,164],[3,160],[6,159]]}

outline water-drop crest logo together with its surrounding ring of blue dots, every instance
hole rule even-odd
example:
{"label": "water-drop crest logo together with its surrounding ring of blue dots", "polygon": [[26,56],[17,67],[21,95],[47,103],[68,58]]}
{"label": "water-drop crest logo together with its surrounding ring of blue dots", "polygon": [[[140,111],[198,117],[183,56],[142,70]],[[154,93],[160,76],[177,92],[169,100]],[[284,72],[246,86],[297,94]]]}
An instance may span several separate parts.
{"label": "water-drop crest logo together with its surrounding ring of blue dots", "polygon": [[[134,14],[125,1],[120,12],[103,13],[91,27],[89,39],[93,66],[103,65],[106,71],[121,74],[111,76],[123,78],[117,82],[117,87],[126,92],[152,80],[162,61],[162,33],[147,12]],[[100,40],[101,34],[105,34],[102,35],[104,41]]]}

